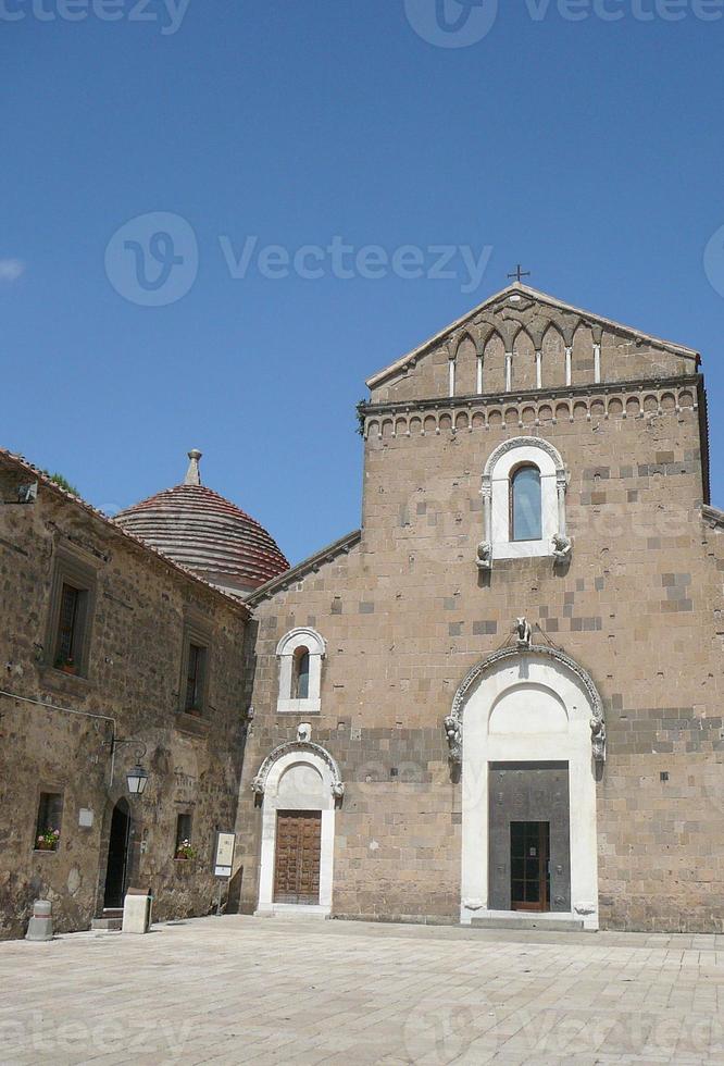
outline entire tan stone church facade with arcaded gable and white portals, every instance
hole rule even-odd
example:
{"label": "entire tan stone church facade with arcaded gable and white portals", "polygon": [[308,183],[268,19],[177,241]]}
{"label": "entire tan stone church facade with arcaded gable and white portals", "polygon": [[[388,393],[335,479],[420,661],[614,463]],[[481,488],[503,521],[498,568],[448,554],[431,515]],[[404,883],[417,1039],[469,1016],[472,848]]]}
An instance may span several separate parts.
{"label": "entire tan stone church facade with arcaded gable and white portals", "polygon": [[361,530],[247,599],[241,909],[721,930],[697,352],[516,283],[367,384]]}

